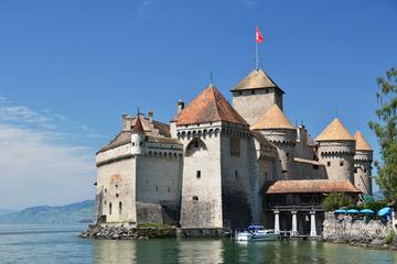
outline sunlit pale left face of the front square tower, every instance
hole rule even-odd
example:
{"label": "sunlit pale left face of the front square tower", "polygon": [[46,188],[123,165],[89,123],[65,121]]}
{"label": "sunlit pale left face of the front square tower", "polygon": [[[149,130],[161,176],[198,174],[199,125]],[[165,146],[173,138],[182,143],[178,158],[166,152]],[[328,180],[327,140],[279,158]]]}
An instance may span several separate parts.
{"label": "sunlit pale left face of the front square tower", "polygon": [[181,226],[222,228],[221,127],[197,138],[185,134],[180,139],[184,146]]}

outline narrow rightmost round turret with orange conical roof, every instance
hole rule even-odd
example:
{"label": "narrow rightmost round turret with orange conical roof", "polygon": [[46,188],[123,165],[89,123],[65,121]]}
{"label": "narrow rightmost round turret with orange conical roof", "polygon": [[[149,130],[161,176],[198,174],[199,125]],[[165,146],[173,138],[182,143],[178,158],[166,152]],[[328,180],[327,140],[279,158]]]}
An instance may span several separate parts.
{"label": "narrow rightmost round turret with orange conical roof", "polygon": [[372,167],[373,150],[363,134],[357,131],[354,134],[356,141],[356,152],[354,155],[354,185],[363,194],[372,195]]}

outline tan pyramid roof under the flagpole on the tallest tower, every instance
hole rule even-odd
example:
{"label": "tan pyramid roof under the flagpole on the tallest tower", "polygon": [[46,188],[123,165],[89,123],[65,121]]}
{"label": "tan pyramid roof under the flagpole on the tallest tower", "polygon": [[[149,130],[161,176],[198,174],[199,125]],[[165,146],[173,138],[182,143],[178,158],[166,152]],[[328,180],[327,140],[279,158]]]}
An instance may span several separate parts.
{"label": "tan pyramid roof under the flagpole on the tallest tower", "polygon": [[270,77],[262,69],[254,69],[248,74],[247,77],[245,77],[230,90],[236,91],[236,90],[248,90],[248,89],[258,89],[258,88],[279,88],[279,87],[275,84],[275,81],[272,81],[272,79],[270,79]]}

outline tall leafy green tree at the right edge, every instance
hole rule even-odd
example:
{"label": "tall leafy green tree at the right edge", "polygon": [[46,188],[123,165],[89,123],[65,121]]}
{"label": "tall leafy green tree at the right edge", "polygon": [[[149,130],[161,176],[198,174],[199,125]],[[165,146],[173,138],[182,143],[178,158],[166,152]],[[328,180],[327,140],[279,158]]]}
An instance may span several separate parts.
{"label": "tall leafy green tree at the right edge", "polygon": [[387,78],[378,78],[379,91],[376,92],[378,109],[377,122],[369,122],[379,145],[382,162],[375,162],[377,183],[389,200],[397,200],[397,69],[390,68]]}

